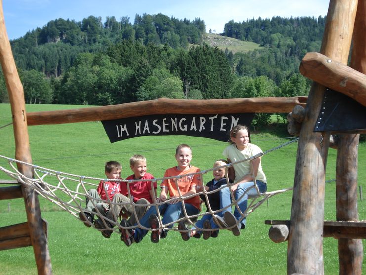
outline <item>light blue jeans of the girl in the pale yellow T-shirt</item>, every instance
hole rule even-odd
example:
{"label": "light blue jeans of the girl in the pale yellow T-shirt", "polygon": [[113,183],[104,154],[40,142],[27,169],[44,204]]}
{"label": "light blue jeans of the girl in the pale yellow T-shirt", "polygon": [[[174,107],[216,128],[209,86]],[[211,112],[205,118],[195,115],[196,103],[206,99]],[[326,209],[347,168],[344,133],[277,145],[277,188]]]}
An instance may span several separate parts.
{"label": "light blue jeans of the girl in the pale yellow T-shirt", "polygon": [[[257,195],[257,191],[253,187],[243,196],[243,194],[251,186],[254,186],[254,182],[240,183],[238,185],[238,188],[234,191],[234,197],[235,197],[235,200],[237,201],[237,205],[238,205],[240,211],[243,212],[243,213],[246,210],[246,208],[248,207],[248,195],[252,195],[252,196]],[[258,186],[259,192],[264,193],[264,192],[267,191],[267,184],[266,183],[263,183],[263,182],[257,180],[257,186]],[[241,196],[243,196],[243,197],[241,199],[239,199]],[[221,206],[221,208],[225,208],[225,207],[229,206],[231,203],[232,203],[232,199],[231,199],[231,194],[230,194],[229,187],[221,189],[220,190],[220,206]],[[224,213],[227,212],[227,211],[231,212],[231,207],[228,207],[228,208],[222,210],[222,212],[219,215],[221,217],[223,217]],[[235,210],[234,210],[234,216],[238,221],[241,219],[241,215],[240,215],[240,213],[239,213],[239,211],[236,207],[235,207]],[[242,220],[242,224],[243,225],[246,224],[246,218],[244,218]],[[218,228],[218,226],[216,225],[215,228]]]}

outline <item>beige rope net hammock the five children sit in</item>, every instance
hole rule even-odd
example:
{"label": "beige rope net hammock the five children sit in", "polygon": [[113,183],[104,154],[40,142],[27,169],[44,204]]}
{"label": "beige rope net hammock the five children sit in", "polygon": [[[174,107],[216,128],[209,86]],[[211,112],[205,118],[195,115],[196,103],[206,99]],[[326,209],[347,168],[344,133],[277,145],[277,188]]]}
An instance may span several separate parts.
{"label": "beige rope net hammock the five children sit in", "polygon": [[[285,144],[282,144],[274,149],[270,149],[264,153],[259,153],[255,156],[252,156],[250,158],[238,161],[238,162],[233,162],[233,163],[229,163],[226,165],[222,165],[220,167],[215,167],[215,168],[211,168],[211,169],[207,169],[207,170],[202,170],[198,173],[191,173],[191,174],[185,174],[185,175],[180,175],[180,176],[174,176],[174,177],[165,177],[165,178],[154,178],[154,179],[146,179],[144,181],[149,181],[151,182],[151,184],[153,185],[154,182],[161,182],[164,179],[179,179],[181,177],[187,177],[187,176],[193,176],[196,174],[200,174],[200,177],[202,179],[202,175],[206,174],[210,171],[213,171],[214,169],[218,169],[218,168],[225,168],[226,169],[226,178],[228,179],[228,175],[227,175],[227,171],[228,168],[233,167],[234,165],[237,165],[241,162],[244,161],[251,161],[255,158],[261,157],[264,154],[271,152],[275,149],[281,148],[285,145],[288,145],[292,142],[295,142],[296,140],[292,140],[289,141]],[[188,215],[187,214],[187,210],[184,204],[184,200],[182,197],[181,192],[178,189],[179,192],[179,198],[182,201],[182,206],[183,206],[183,217],[168,223],[168,224],[163,224],[162,222],[162,218],[161,215],[162,213],[159,212],[159,206],[163,205],[163,204],[170,204],[171,200],[167,199],[164,202],[156,202],[156,197],[154,194],[154,198],[153,201],[155,203],[149,203],[148,201],[144,202],[144,203],[136,203],[133,201],[133,198],[130,194],[130,184],[133,184],[134,182],[140,181],[140,180],[123,180],[123,179],[113,179],[114,182],[120,182],[121,183],[125,183],[127,185],[127,190],[128,190],[128,201],[124,201],[124,202],[114,202],[111,201],[109,199],[109,197],[107,196],[107,199],[100,199],[100,198],[95,198],[92,197],[90,195],[90,192],[88,192],[88,190],[91,189],[96,189],[98,184],[103,181],[103,182],[107,182],[109,181],[109,179],[103,179],[103,178],[94,178],[94,177],[87,177],[87,176],[81,176],[81,175],[75,175],[75,174],[70,174],[70,173],[65,173],[65,172],[60,172],[60,171],[55,171],[55,170],[51,170],[51,169],[47,169],[44,167],[40,167],[37,165],[33,165],[30,163],[26,163],[26,162],[22,162],[13,158],[8,158],[5,156],[0,155],[0,158],[7,160],[8,166],[7,168],[5,168],[4,166],[0,166],[0,170],[3,171],[4,173],[6,173],[8,176],[10,176],[11,178],[17,180],[19,183],[22,183],[24,185],[26,185],[27,187],[33,189],[35,192],[37,192],[41,197],[49,200],[50,202],[52,202],[53,204],[57,205],[59,208],[61,208],[64,211],[69,212],[71,215],[73,215],[74,217],[76,217],[77,219],[81,220],[85,225],[87,225],[88,227],[93,227],[99,231],[114,231],[116,233],[120,233],[119,231],[119,227],[120,228],[125,228],[125,229],[131,229],[131,228],[136,228],[139,227],[141,229],[145,229],[145,230],[150,230],[150,231],[155,231],[155,230],[159,230],[159,229],[164,229],[164,230],[175,230],[175,231],[182,231],[177,229],[177,227],[171,227],[172,224],[174,225],[175,223],[178,223],[180,221],[184,221],[185,224],[189,224],[194,226],[195,225],[195,221],[200,219],[200,217],[202,217],[205,214],[211,214],[211,215],[215,215],[218,214],[219,212],[221,212],[222,210],[225,210],[227,208],[230,208],[230,210],[235,207],[240,215],[241,218],[237,221],[236,226],[244,219],[246,218],[250,213],[252,213],[256,208],[258,208],[260,205],[262,205],[267,199],[269,199],[270,197],[273,197],[277,194],[283,193],[285,191],[288,190],[292,190],[293,188],[286,188],[286,189],[281,189],[281,190],[276,190],[276,191],[271,191],[271,192],[265,192],[265,193],[260,193],[259,189],[257,187],[255,178],[254,178],[254,185],[251,188],[248,188],[246,190],[246,192],[244,192],[242,194],[242,196],[240,196],[239,198],[237,198],[237,200],[235,199],[234,193],[233,191],[230,189],[230,193],[231,193],[231,198],[232,198],[232,203],[229,206],[226,206],[225,208],[219,209],[219,210],[212,210],[211,205],[209,203],[209,199],[208,199],[208,195],[215,193],[215,192],[220,192],[220,190],[222,190],[223,188],[226,188],[228,186],[232,186],[236,183],[238,183],[240,180],[234,182],[234,183],[229,183],[229,181],[227,180],[227,184],[222,185],[221,187],[213,190],[213,191],[206,191],[205,188],[201,188],[202,190],[197,191],[196,194],[190,195],[190,196],[185,196],[184,200],[193,198],[194,196],[199,196],[199,195],[203,195],[205,196],[205,201],[206,201],[206,205],[207,205],[207,212],[200,212],[199,214],[196,215]],[[22,173],[19,172],[18,168],[17,168],[17,164],[22,164],[22,165],[27,165],[30,166],[32,168],[33,171],[33,178],[29,178],[24,176]],[[111,180],[112,181],[112,180]],[[178,181],[175,181],[176,184]],[[203,181],[202,181],[203,183]],[[203,183],[204,186],[204,183]],[[243,196],[245,196],[246,194],[248,194],[248,192],[254,189],[255,190],[255,195],[254,196],[248,196],[250,200],[248,200],[248,205],[247,208],[244,212],[242,212],[238,205],[237,205],[237,201],[239,201],[241,198],[243,198]],[[89,211],[86,210],[85,208],[85,200],[89,200],[92,205],[93,205],[93,210]],[[203,202],[203,201],[202,201]],[[107,215],[107,213],[105,211],[103,211],[103,208],[98,207],[100,204],[105,204],[109,206],[109,210],[108,213],[109,215]],[[136,224],[137,225],[128,225],[126,227],[123,227],[119,224],[118,218],[124,217],[125,213],[121,212],[115,212],[114,209],[116,205],[119,205],[120,207],[118,209],[121,209],[121,205],[130,205],[132,206],[132,213],[130,213],[130,215],[132,217],[135,218],[136,220]],[[146,228],[143,225],[141,225],[140,223],[140,219],[141,217],[138,217],[140,213],[138,210],[139,208],[144,207],[145,209],[148,209],[149,207],[156,207],[157,209],[157,213],[158,213],[158,219],[159,219],[159,228],[157,229],[151,229],[151,228]],[[92,223],[92,221],[89,221],[87,219],[87,217],[85,216],[85,214],[83,214],[84,212],[90,212],[91,215],[96,216],[95,219],[99,219],[101,221],[101,223],[103,224],[103,226],[99,226],[96,227],[94,223]],[[107,217],[108,216],[108,217]],[[214,218],[215,220],[215,218]],[[219,226],[219,229],[231,229],[233,228],[223,228],[221,225],[219,225],[219,223],[217,223]],[[170,227],[169,227],[170,226]],[[190,229],[191,230],[191,229]],[[200,231],[208,231],[210,229],[199,229]]]}

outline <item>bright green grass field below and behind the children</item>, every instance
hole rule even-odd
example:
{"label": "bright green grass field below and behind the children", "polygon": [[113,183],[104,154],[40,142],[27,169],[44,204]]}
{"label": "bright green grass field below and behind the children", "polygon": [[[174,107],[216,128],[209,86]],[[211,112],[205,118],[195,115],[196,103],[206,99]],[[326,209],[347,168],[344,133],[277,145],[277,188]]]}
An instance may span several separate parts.
{"label": "bright green grass field below and behind the children", "polygon": [[[75,108],[60,105],[27,105],[27,111]],[[79,106],[77,106],[79,107]],[[0,127],[11,122],[9,104],[0,104]],[[104,163],[117,160],[122,177],[131,174],[128,160],[135,153],[146,156],[149,172],[163,177],[174,166],[178,144],[192,146],[192,164],[203,169],[222,158],[225,142],[187,136],[138,137],[109,143],[100,122],[29,129],[33,163],[50,169],[91,177],[104,177]],[[285,125],[275,131],[252,133],[251,141],[263,151],[285,143]],[[274,133],[277,133],[276,135]],[[280,134],[279,134],[280,133]],[[282,134],[281,134],[282,133]],[[13,129],[0,129],[0,155],[14,156]],[[269,191],[293,185],[297,143],[272,151],[262,158]],[[336,151],[329,149],[326,180],[335,178]],[[0,159],[0,165],[6,165]],[[359,185],[366,188],[366,144],[359,145]],[[0,179],[6,176],[0,173]],[[203,176],[204,182],[212,175]],[[365,195],[364,195],[365,197]],[[146,237],[140,244],[126,247],[120,235],[105,239],[99,231],[86,228],[81,221],[40,198],[42,217],[48,221],[48,246],[54,274],[286,274],[287,243],[275,244],[268,238],[264,220],[289,219],[292,192],[277,195],[248,216],[247,228],[239,237],[223,230],[218,238],[184,242],[178,232],[158,244]],[[10,203],[10,211],[8,206]],[[366,219],[365,200],[358,201],[360,220]],[[325,220],[335,220],[335,182],[326,183]],[[0,201],[0,227],[26,221],[22,199]],[[365,247],[365,241],[363,241]],[[339,274],[337,241],[324,239],[325,274]],[[363,265],[366,271],[366,265]],[[0,251],[0,274],[36,274],[32,247]]]}

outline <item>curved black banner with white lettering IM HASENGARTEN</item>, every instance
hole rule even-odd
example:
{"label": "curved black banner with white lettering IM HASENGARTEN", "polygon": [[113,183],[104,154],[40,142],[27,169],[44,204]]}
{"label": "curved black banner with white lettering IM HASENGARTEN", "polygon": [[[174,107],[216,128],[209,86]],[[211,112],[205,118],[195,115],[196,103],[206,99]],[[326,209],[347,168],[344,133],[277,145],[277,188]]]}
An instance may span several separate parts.
{"label": "curved black banner with white lettering IM HASENGARTEN", "polygon": [[254,113],[244,114],[167,114],[102,121],[111,143],[140,136],[187,135],[228,141],[231,128],[251,125]]}

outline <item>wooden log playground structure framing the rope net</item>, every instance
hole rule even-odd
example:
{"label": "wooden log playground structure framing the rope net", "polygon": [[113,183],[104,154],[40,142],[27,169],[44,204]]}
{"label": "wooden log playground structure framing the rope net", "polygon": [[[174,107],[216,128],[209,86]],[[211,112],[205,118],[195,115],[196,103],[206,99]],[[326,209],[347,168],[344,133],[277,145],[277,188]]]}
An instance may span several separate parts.
{"label": "wooden log playground structure framing the rope net", "polygon": [[[0,1],[0,61],[6,80],[13,118],[15,159],[32,163],[28,125],[109,120],[139,115],[182,113],[291,112],[292,125],[299,130],[291,217],[288,221],[266,221],[275,242],[288,241],[288,274],[324,274],[323,238],[338,239],[339,273],[362,274],[366,225],[358,222],[357,145],[359,133],[337,133],[336,221],[324,221],[325,170],[330,132],[314,132],[326,87],[342,92],[366,106],[366,0],[330,0],[323,42],[318,53],[308,53],[300,72],[316,81],[307,98],[246,98],[222,100],[158,99],[114,106],[26,113],[23,87],[19,80],[7,37]],[[351,41],[353,49],[347,66]],[[306,103],[305,103],[306,101]],[[305,107],[303,111],[298,105]],[[181,108],[184,106],[184,108]],[[229,108],[228,108],[229,106]],[[178,108],[179,107],[179,108]],[[296,109],[295,109],[296,108]],[[207,110],[210,110],[207,112]],[[296,110],[296,111],[295,111]],[[18,164],[19,171],[32,177],[31,167]],[[37,193],[14,184],[0,188],[0,199],[24,198],[27,222],[0,228],[0,250],[33,246],[38,274],[52,274],[47,244],[47,224],[41,218]]]}

